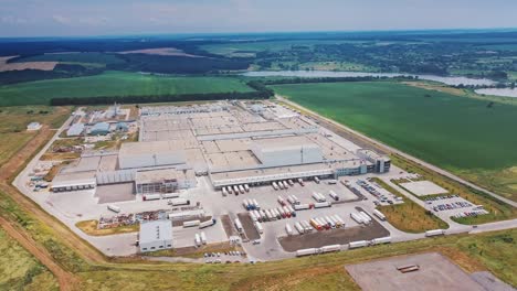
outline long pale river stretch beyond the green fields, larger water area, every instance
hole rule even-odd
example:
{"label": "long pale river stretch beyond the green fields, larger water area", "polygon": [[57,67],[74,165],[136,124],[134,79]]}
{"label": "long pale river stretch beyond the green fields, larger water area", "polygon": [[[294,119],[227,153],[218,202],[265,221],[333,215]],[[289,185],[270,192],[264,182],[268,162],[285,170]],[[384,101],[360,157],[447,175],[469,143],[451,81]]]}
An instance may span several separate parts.
{"label": "long pale river stretch beyond the green fields, larger water area", "polygon": [[247,77],[303,77],[303,78],[329,78],[329,77],[398,77],[398,76],[418,76],[420,79],[440,82],[446,85],[456,86],[463,85],[495,85],[496,82],[486,78],[467,78],[467,77],[442,77],[434,75],[413,75],[413,74],[397,74],[397,73],[362,73],[362,72],[330,72],[330,71],[256,71],[246,72],[243,74]]}

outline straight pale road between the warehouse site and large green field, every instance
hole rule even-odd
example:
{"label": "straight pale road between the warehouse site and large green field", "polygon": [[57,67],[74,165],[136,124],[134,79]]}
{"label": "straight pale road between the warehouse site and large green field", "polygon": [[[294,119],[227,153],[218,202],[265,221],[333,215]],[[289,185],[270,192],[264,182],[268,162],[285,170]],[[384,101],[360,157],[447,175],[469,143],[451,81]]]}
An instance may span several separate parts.
{"label": "straight pale road between the warehouse site and large green field", "polygon": [[511,205],[511,206],[514,206],[514,207],[517,207],[517,202],[514,202],[514,201],[511,201],[511,200],[508,200],[508,198],[505,198],[505,197],[503,197],[503,196],[500,196],[500,195],[497,195],[497,194],[494,193],[494,192],[490,192],[490,191],[488,191],[488,190],[486,190],[486,188],[483,188],[483,187],[481,187],[481,186],[478,186],[478,185],[475,185],[475,184],[473,184],[473,183],[471,183],[471,182],[468,182],[468,181],[466,181],[466,180],[463,180],[463,179],[458,177],[457,175],[454,175],[454,174],[452,174],[452,173],[450,173],[450,172],[447,172],[447,171],[445,171],[445,170],[443,170],[443,169],[441,169],[441,168],[439,168],[439,166],[435,166],[435,165],[433,165],[433,164],[430,164],[430,163],[428,163],[428,162],[424,162],[424,161],[422,161],[422,160],[420,160],[420,159],[418,159],[418,158],[414,158],[413,155],[410,155],[410,154],[408,154],[408,153],[405,153],[405,152],[399,151],[399,150],[397,150],[397,149],[394,149],[394,148],[392,148],[392,147],[390,147],[390,146],[387,146],[387,144],[384,144],[384,143],[378,141],[378,140],[374,140],[374,139],[372,139],[372,138],[369,138],[369,137],[367,137],[367,136],[365,136],[365,134],[362,134],[362,133],[360,133],[360,132],[358,132],[358,131],[356,131],[356,130],[354,130],[354,129],[351,129],[351,128],[349,128],[349,127],[347,127],[347,126],[344,126],[344,125],[341,125],[341,123],[338,123],[338,122],[336,122],[336,121],[334,121],[334,120],[331,120],[331,119],[328,119],[328,118],[326,118],[326,117],[323,117],[323,116],[320,116],[319,114],[317,114],[317,112],[315,112],[315,111],[313,111],[313,110],[310,110],[310,109],[308,109],[308,108],[306,108],[306,107],[303,107],[303,106],[300,106],[300,105],[298,105],[298,104],[296,104],[296,103],[293,103],[293,101],[291,101],[291,100],[288,100],[288,99],[282,97],[282,96],[275,95],[275,97],[276,97],[278,100],[281,100],[281,101],[283,101],[283,103],[286,103],[286,104],[288,104],[288,105],[291,105],[291,106],[302,108],[303,110],[305,110],[305,111],[307,111],[307,112],[314,115],[315,117],[317,117],[317,118],[319,118],[319,119],[321,119],[321,120],[325,120],[325,121],[328,122],[328,123],[331,123],[333,126],[336,126],[336,127],[339,127],[339,128],[341,128],[341,129],[345,129],[346,131],[349,131],[349,132],[351,132],[351,133],[354,133],[354,134],[360,137],[361,139],[367,140],[367,141],[369,141],[369,142],[373,143],[373,144],[377,146],[377,147],[383,148],[383,149],[384,149],[386,151],[388,151],[388,152],[397,153],[397,154],[399,154],[399,155],[401,155],[401,157],[403,157],[403,158],[405,158],[405,159],[408,159],[408,160],[411,160],[411,161],[413,161],[413,162],[415,162],[415,163],[419,163],[419,164],[421,164],[421,165],[423,165],[423,166],[425,166],[425,168],[429,168],[429,169],[431,169],[432,171],[434,171],[434,172],[436,172],[436,173],[439,173],[439,174],[441,174],[441,175],[444,175],[444,176],[446,176],[446,177],[449,177],[449,179],[452,179],[452,180],[454,180],[454,181],[456,181],[456,182],[458,182],[458,183],[462,183],[462,184],[464,184],[464,185],[466,185],[466,186],[469,186],[469,187],[472,187],[472,188],[475,188],[475,190],[477,190],[477,191],[485,192],[486,194],[488,194],[488,195],[490,195],[490,196],[493,196],[493,197],[495,197],[495,198],[497,198],[497,200],[499,200],[499,201],[502,201],[502,202],[504,202],[504,203],[506,203],[506,204],[509,204],[509,205]]}

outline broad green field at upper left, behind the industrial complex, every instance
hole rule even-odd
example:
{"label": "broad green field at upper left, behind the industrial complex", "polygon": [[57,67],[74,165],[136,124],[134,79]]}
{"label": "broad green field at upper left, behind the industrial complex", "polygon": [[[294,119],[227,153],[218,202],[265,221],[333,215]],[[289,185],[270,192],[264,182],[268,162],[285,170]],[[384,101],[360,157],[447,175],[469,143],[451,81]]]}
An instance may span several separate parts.
{"label": "broad green field at upper left, behind the industrial complex", "polygon": [[101,75],[0,86],[0,106],[46,105],[59,97],[152,96],[252,91],[231,77],[150,76],[106,72]]}

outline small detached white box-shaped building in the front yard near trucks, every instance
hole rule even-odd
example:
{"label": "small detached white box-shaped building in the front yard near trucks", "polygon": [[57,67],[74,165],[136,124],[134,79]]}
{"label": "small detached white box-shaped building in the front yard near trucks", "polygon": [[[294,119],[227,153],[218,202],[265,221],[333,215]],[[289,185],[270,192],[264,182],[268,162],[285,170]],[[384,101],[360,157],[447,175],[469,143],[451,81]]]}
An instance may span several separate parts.
{"label": "small detached white box-shaped building in the front yard near trucks", "polygon": [[169,219],[141,222],[139,233],[140,251],[172,248],[172,223]]}

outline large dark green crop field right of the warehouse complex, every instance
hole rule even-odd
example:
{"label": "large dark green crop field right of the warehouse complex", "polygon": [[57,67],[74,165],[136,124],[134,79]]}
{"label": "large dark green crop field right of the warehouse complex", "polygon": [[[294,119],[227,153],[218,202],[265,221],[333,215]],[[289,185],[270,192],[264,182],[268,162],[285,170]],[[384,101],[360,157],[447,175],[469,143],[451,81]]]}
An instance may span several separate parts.
{"label": "large dark green crop field right of the warehouse complex", "polygon": [[272,88],[325,117],[454,173],[479,173],[479,185],[517,201],[517,175],[508,182],[507,177],[499,181],[497,175],[483,174],[508,172],[517,165],[517,152],[513,150],[517,144],[513,133],[517,106],[489,107],[486,100],[392,82]]}

